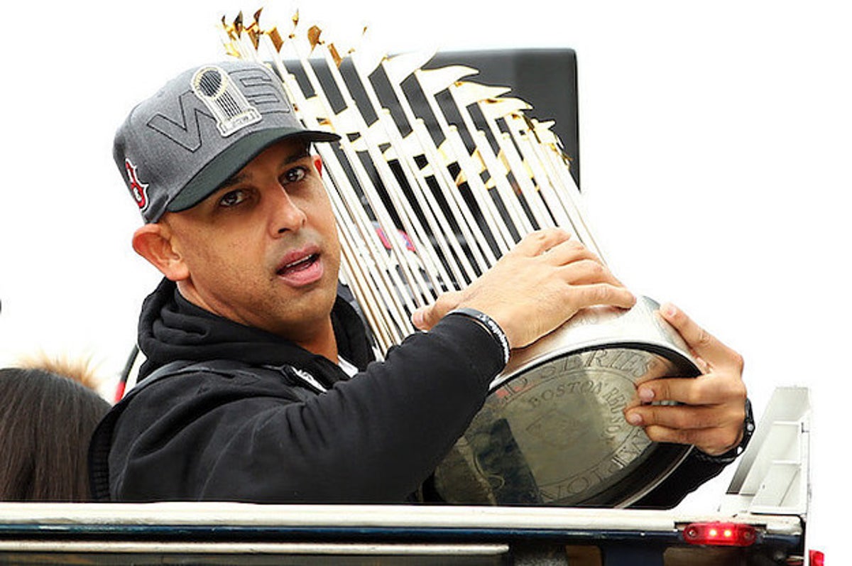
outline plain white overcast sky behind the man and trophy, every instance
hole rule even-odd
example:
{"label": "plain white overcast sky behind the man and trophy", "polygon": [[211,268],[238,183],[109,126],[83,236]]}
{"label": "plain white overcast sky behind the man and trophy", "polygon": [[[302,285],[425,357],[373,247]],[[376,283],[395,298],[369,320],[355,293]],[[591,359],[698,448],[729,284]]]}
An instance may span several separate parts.
{"label": "plain white overcast sky behind the man and trophy", "polygon": [[[848,429],[852,395],[842,3],[500,4],[325,1],[301,14],[341,38],[370,24],[393,52],[577,50],[583,189],[608,263],[746,356],[758,417],[774,386],[811,388],[810,542],[844,563],[831,521],[850,503],[836,456],[846,439],[834,431]],[[140,220],[112,163],[113,132],[172,75],[222,58],[222,14],[260,5],[83,0],[7,12],[0,363],[37,349],[90,355],[115,378],[159,278],[130,249]],[[271,3],[266,22],[285,27],[295,5]]]}

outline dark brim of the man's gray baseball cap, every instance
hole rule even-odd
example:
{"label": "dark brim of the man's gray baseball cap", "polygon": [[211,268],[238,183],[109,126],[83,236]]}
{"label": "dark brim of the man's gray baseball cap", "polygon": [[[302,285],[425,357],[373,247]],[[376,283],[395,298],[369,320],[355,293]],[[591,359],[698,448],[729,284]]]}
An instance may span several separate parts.
{"label": "dark brim of the man's gray baseball cap", "polygon": [[187,182],[174,199],[166,205],[170,212],[185,211],[214,193],[223,182],[236,175],[251,159],[255,159],[264,149],[276,141],[301,139],[304,141],[337,141],[340,136],[319,130],[301,130],[294,128],[270,128],[252,132],[233,145],[227,147],[216,158],[204,165],[196,176]]}

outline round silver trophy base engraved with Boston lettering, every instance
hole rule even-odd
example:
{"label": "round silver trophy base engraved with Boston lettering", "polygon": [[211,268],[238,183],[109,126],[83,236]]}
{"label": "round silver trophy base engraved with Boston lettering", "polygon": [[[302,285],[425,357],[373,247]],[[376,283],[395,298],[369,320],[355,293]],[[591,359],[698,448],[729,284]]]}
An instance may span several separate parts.
{"label": "round silver trophy base engraved with Boston lettering", "polygon": [[435,470],[441,499],[465,505],[623,507],[662,482],[691,447],[629,425],[636,385],[694,377],[682,338],[640,297],[585,309],[515,350],[469,429]]}

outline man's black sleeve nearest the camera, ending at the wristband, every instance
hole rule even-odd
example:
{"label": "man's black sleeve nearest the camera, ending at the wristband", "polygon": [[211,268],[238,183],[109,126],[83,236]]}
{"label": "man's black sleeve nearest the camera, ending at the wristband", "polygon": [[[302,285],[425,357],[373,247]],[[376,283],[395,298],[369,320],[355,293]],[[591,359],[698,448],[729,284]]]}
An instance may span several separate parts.
{"label": "man's black sleeve nearest the camera, ending at the wristband", "polygon": [[446,317],[321,395],[245,374],[164,379],[118,419],[112,499],[403,501],[467,428],[502,367],[489,332]]}

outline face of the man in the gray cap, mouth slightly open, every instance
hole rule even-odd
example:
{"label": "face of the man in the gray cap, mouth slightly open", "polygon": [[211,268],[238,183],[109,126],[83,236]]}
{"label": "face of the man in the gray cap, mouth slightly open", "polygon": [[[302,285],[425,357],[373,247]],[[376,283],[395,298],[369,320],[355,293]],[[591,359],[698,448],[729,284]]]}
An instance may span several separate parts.
{"label": "face of the man in the gray cap, mouth slightly open", "polygon": [[187,211],[163,221],[193,303],[297,344],[329,324],[340,245],[314,157],[301,141],[268,147]]}

